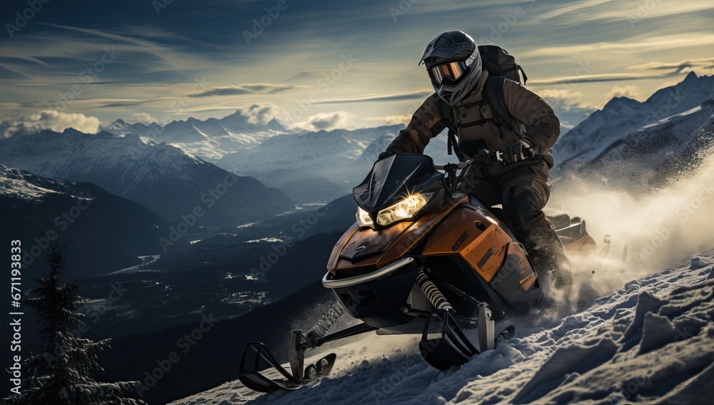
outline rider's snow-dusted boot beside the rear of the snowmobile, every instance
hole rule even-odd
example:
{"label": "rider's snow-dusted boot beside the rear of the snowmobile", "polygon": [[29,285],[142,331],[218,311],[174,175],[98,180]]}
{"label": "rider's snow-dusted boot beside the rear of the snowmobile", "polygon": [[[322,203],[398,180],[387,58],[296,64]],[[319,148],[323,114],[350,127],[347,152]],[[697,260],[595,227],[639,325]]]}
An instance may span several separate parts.
{"label": "rider's snow-dusted boot beside the rear of the snowmobile", "polygon": [[533,228],[526,234],[523,245],[531,256],[535,273],[542,283],[550,284],[556,289],[572,284],[570,260],[565,256],[565,249],[558,234],[555,234],[555,229],[551,226]]}

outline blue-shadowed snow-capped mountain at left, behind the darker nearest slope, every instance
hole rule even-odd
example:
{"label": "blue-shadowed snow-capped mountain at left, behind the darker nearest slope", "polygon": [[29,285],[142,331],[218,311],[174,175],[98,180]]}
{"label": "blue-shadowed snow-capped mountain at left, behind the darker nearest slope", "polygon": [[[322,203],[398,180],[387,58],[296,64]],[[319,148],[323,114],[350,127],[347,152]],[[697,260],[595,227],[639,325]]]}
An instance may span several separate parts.
{"label": "blue-shadowed snow-capped mountain at left, behind the darker nearest slope", "polygon": [[134,134],[74,129],[15,134],[0,139],[0,162],[40,176],[97,184],[189,228],[234,227],[294,209],[285,194],[256,179]]}

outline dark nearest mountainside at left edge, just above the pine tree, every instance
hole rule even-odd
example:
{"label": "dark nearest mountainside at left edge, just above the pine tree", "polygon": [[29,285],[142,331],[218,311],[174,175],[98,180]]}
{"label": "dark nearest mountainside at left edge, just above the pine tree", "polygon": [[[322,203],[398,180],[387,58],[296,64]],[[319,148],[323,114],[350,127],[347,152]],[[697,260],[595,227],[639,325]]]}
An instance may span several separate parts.
{"label": "dark nearest mountainside at left edge, just above the pine tree", "polygon": [[[4,241],[20,240],[26,275],[42,275],[51,243],[64,247],[74,276],[96,276],[160,254],[171,224],[95,184],[49,179],[0,165]],[[172,247],[188,246],[178,240]]]}

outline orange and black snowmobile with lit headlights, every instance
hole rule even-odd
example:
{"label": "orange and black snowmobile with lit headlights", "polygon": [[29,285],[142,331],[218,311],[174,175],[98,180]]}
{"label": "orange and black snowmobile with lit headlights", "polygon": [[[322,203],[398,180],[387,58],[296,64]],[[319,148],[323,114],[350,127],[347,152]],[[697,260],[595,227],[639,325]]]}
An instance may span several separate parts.
{"label": "orange and black snowmobile with lit headlights", "polygon": [[[462,192],[470,169],[493,164],[506,162],[487,150],[445,166],[421,154],[376,161],[353,189],[356,223],[338,240],[322,279],[338,303],[311,330],[292,332],[290,372],[266,346],[248,344],[238,371],[243,384],[296,389],[328,374],[336,359],[330,354],[305,366],[307,349],[368,331],[421,334],[421,354],[437,369],[464,364],[513,336],[513,326],[496,334],[496,321],[525,313],[543,291],[503,212]],[[561,214],[551,221],[568,251],[594,249],[583,219]],[[345,313],[361,323],[329,333]],[[261,371],[265,366],[277,378]]]}

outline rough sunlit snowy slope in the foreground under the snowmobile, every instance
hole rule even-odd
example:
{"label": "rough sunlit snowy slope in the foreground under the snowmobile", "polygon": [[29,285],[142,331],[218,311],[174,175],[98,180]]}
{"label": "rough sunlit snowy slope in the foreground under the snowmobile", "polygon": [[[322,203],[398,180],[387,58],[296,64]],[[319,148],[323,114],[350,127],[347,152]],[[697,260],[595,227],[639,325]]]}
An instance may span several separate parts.
{"label": "rough sunlit snowy slope in the foreground under the snowmobile", "polygon": [[[630,281],[577,314],[515,319],[516,338],[460,369],[429,367],[415,339],[372,335],[338,349],[336,370],[313,386],[260,395],[231,381],[173,404],[705,403],[714,382],[712,263],[710,252]],[[587,286],[583,271],[580,291]]]}

